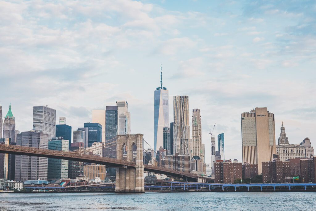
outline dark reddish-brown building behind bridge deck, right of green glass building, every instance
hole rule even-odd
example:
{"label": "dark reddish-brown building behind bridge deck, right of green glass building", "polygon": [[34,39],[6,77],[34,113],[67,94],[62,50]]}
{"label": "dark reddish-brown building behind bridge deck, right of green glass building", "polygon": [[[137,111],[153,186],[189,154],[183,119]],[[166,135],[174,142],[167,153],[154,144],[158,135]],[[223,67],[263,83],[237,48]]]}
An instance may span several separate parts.
{"label": "dark reddish-brown building behind bridge deck, right of green glass building", "polygon": [[[84,131],[82,131],[84,132]],[[76,142],[71,143],[69,151],[84,151],[84,143]],[[76,179],[76,177],[82,177],[83,174],[83,162],[69,160],[68,161],[68,177],[70,179]]]}

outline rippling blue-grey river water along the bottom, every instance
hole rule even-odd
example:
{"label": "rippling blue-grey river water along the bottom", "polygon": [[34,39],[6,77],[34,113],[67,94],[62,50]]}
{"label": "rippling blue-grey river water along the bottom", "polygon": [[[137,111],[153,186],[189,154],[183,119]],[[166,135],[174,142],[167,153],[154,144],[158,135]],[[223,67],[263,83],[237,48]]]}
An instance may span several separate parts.
{"label": "rippling blue-grey river water along the bottom", "polygon": [[316,192],[7,193],[0,210],[316,210]]}

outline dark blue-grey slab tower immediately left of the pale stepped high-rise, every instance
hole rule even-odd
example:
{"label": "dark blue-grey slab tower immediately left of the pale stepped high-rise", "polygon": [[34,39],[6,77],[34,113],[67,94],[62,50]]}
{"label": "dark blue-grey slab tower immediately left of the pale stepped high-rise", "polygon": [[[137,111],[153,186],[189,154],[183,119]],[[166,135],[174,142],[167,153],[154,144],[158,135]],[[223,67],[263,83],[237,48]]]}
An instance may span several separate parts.
{"label": "dark blue-grey slab tower immediately left of the pale stepped high-rise", "polygon": [[108,158],[116,158],[116,142],[118,135],[118,106],[106,106],[105,153]]}

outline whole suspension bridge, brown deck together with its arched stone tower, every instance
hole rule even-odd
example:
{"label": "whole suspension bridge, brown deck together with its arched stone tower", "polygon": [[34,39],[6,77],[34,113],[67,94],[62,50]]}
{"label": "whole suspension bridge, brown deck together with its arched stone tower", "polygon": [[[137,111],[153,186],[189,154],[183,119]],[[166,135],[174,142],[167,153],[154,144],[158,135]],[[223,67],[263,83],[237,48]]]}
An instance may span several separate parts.
{"label": "whole suspension bridge, brown deck together with its arched stone tower", "polygon": [[[136,161],[133,159],[133,152]],[[204,182],[205,177],[161,166],[143,164],[143,134],[118,135],[116,159],[85,154],[83,151],[56,151],[27,146],[0,144],[0,153],[75,160],[116,168],[115,192],[144,192],[144,171],[180,177],[185,181]],[[124,154],[123,154],[124,153]],[[125,157],[125,158],[124,158]]]}

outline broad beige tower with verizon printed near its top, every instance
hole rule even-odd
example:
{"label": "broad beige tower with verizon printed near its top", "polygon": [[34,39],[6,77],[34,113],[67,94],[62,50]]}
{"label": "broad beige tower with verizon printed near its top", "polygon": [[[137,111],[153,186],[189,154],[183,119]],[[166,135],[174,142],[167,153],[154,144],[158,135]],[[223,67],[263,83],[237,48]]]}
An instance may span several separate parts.
{"label": "broad beige tower with verizon printed near its top", "polygon": [[276,154],[274,114],[266,107],[242,113],[241,138],[243,163],[258,164],[261,174],[262,162],[272,161]]}

